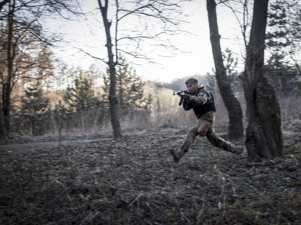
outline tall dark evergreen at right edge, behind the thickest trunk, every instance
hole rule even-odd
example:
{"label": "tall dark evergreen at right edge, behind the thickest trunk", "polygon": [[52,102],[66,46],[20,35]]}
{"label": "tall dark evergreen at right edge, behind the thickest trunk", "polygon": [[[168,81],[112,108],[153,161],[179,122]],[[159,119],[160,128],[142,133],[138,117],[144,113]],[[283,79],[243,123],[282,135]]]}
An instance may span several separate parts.
{"label": "tall dark evergreen at right edge, behind the thickest trunk", "polygon": [[268,13],[266,75],[274,88],[285,95],[300,93],[301,67],[301,14],[297,1],[278,0]]}

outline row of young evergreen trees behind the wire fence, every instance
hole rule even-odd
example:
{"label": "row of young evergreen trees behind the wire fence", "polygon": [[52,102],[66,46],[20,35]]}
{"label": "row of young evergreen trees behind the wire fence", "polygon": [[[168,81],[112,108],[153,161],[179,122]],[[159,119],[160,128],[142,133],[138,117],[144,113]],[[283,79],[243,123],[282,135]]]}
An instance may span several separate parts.
{"label": "row of young evergreen trees behind the wire fence", "polygon": [[[125,62],[125,58],[123,58]],[[97,109],[109,107],[107,99],[110,88],[110,80],[107,74],[103,75],[104,85],[101,92],[95,93],[95,84],[91,75],[83,70],[79,70],[76,78],[67,85],[66,90],[62,91],[62,100],[59,100],[54,108],[51,109],[47,92],[43,91],[39,80],[34,79],[25,85],[25,96],[22,99],[20,110],[15,110],[14,114],[29,114],[33,110],[34,114],[39,117],[50,116],[53,114],[77,112],[88,109]],[[151,97],[144,97],[143,87],[145,82],[136,75],[135,70],[126,66],[118,66],[116,70],[116,93],[118,107],[129,107],[135,105],[137,109],[150,110]]]}

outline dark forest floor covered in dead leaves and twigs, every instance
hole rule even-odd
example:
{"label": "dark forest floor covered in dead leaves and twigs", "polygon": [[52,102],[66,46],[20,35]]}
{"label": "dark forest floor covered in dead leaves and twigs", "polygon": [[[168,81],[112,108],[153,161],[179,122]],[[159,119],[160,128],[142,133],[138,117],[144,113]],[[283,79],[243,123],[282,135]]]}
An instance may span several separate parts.
{"label": "dark forest floor covered in dead leaves and twigs", "polygon": [[[257,164],[201,137],[175,164],[168,150],[188,129],[56,148],[0,146],[0,224],[301,224],[300,128],[284,127],[282,158]],[[215,129],[227,139],[225,128]]]}

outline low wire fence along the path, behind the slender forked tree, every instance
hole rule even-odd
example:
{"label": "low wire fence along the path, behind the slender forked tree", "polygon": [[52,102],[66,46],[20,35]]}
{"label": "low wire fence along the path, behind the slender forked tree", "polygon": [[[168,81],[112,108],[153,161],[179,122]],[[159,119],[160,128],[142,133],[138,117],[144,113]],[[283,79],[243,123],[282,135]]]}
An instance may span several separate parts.
{"label": "low wire fence along the path, behind the slender forked tree", "polygon": [[[5,118],[6,119],[6,118]],[[73,113],[36,117],[35,115],[9,116],[10,134],[18,136],[68,135],[111,132],[110,109],[90,109]],[[121,128],[144,129],[151,127],[150,113],[135,107],[119,109]]]}

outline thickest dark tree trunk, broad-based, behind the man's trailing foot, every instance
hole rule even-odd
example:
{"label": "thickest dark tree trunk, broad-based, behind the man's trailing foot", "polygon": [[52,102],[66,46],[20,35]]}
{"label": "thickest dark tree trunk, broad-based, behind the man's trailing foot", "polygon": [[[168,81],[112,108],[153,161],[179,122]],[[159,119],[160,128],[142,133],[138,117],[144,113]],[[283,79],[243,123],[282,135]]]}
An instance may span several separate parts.
{"label": "thickest dark tree trunk, broad-based, behind the man's trailing foot", "polygon": [[275,91],[264,77],[265,29],[268,0],[255,0],[250,41],[246,47],[244,91],[249,162],[282,156],[282,123]]}

